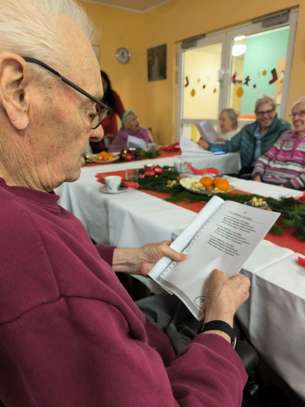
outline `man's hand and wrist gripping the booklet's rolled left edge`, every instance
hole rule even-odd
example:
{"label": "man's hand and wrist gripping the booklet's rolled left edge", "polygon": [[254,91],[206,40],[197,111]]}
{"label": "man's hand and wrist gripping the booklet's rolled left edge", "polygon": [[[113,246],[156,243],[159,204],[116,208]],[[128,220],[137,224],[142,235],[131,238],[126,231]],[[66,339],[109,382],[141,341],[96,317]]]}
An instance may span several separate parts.
{"label": "man's hand and wrist gripping the booklet's rolled left edge", "polygon": [[146,276],[153,265],[164,256],[174,261],[187,258],[186,254],[178,253],[169,247],[171,243],[170,241],[149,243],[138,249],[116,248],[113,252],[112,268],[122,273]]}

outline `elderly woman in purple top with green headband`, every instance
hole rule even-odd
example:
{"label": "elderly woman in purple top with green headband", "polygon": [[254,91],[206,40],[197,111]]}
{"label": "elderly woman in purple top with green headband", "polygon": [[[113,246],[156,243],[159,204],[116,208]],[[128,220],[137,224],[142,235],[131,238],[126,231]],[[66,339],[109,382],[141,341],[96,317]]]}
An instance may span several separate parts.
{"label": "elderly woman in purple top with green headband", "polygon": [[137,137],[147,143],[153,143],[153,136],[145,127],[141,127],[139,118],[132,110],[126,110],[122,116],[122,128],[115,136],[108,151],[121,151],[127,147],[128,136]]}

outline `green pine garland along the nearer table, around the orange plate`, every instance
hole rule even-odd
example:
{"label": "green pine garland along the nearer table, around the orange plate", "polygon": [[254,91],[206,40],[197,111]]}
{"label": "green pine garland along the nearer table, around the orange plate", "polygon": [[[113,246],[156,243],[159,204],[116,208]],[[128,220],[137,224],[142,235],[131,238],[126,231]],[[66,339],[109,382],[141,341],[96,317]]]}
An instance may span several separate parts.
{"label": "green pine garland along the nearer table, around the orange plate", "polygon": [[[144,170],[139,171],[140,174],[144,174]],[[187,191],[179,183],[173,186],[168,186],[167,181],[174,181],[179,176],[179,173],[172,167],[164,166],[163,173],[156,177],[144,177],[139,178],[139,189],[153,190],[157,192],[170,193],[171,196],[165,198],[166,201],[177,202],[208,202],[212,196],[198,195]],[[225,194],[218,193],[218,197],[224,201],[230,200],[244,204],[246,201],[250,201],[253,197],[264,198],[257,194]],[[274,212],[281,212],[277,224],[273,225],[269,233],[278,236],[284,236],[283,229],[294,229],[293,233],[301,242],[305,243],[305,204],[303,202],[296,201],[292,197],[277,200],[271,197],[264,199],[269,208]]]}

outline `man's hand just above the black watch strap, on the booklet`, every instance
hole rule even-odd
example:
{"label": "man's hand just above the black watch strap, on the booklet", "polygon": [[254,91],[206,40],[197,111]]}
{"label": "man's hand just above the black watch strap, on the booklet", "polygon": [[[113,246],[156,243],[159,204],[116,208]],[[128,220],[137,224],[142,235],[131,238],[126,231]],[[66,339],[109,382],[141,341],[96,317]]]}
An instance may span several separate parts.
{"label": "man's hand just above the black watch strap, on the booklet", "polygon": [[249,297],[250,280],[242,274],[230,278],[222,271],[214,269],[208,281],[205,322],[219,319],[233,326],[236,310]]}

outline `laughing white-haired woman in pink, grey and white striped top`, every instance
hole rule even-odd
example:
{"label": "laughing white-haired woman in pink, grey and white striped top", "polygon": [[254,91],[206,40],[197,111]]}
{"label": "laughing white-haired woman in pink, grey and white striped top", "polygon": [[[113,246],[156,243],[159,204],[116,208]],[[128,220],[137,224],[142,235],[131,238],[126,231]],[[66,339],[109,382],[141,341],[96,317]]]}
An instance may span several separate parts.
{"label": "laughing white-haired woman in pink, grey and white striped top", "polygon": [[295,131],[286,131],[255,163],[254,181],[305,189],[305,98],[292,106]]}

